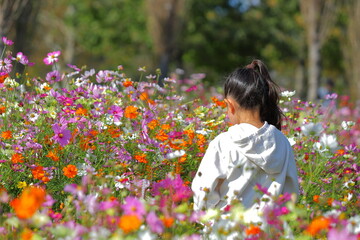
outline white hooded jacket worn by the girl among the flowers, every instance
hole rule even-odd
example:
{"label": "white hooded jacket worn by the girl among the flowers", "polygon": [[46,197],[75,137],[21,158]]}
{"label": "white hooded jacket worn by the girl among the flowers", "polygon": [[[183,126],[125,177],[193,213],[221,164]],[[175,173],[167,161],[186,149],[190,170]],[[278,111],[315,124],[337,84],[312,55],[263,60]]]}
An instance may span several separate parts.
{"label": "white hooded jacket worn by the girl among the flowers", "polygon": [[267,122],[261,128],[234,125],[210,142],[191,186],[194,209],[222,209],[234,198],[254,208],[254,201],[263,197],[255,191],[256,184],[272,195],[299,194],[292,147]]}

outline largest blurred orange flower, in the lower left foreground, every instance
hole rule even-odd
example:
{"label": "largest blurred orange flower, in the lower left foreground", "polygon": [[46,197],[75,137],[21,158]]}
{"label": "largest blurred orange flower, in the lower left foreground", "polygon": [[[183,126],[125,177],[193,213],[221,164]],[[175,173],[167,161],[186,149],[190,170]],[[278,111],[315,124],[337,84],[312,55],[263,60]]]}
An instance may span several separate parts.
{"label": "largest blurred orange flower, in the lower left foreground", "polygon": [[15,210],[16,216],[20,219],[28,219],[41,207],[45,201],[45,190],[31,186],[26,188],[20,195],[10,202]]}

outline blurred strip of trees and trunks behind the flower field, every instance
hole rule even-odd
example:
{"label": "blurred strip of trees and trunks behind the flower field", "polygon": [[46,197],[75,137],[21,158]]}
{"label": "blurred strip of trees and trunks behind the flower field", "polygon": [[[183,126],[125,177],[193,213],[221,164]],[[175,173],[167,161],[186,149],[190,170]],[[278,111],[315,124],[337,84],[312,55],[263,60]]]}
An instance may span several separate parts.
{"label": "blurred strip of trees and trunks behind the flower field", "polygon": [[64,71],[122,65],[136,76],[146,66],[163,76],[205,73],[220,86],[259,58],[304,100],[360,99],[359,0],[0,0],[0,35],[36,63],[27,69],[36,76],[51,70],[46,54],[61,50]]}

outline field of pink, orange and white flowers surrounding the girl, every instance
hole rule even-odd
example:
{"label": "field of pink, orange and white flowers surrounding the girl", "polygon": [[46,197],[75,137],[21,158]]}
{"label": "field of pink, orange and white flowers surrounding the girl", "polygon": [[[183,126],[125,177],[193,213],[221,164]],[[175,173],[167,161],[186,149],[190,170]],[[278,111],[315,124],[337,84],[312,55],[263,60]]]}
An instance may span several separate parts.
{"label": "field of pink, orange and white flowers surrounding the girl", "polygon": [[193,175],[228,127],[203,74],[160,87],[145,67],[60,71],[56,51],[34,77],[14,72],[33,63],[2,41],[1,239],[360,239],[360,107],[346,96],[314,104],[282,92],[301,195],[271,196],[250,223],[237,202],[192,210]]}

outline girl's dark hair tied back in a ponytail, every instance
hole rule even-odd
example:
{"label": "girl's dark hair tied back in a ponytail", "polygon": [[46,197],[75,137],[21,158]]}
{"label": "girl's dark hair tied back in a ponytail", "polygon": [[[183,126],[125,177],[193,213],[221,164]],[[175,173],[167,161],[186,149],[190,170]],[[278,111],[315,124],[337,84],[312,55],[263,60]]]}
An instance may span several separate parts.
{"label": "girl's dark hair tied back in a ponytail", "polygon": [[260,108],[261,121],[281,130],[283,113],[278,106],[279,87],[271,80],[265,64],[253,60],[244,68],[237,68],[225,80],[225,98],[231,96],[245,109]]}

